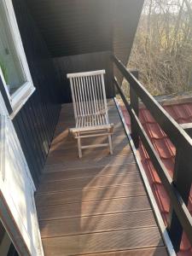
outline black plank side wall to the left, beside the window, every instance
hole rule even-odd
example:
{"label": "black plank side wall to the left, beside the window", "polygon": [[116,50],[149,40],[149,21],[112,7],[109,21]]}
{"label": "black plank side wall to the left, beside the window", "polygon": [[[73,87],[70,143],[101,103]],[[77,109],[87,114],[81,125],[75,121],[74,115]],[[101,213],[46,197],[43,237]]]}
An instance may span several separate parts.
{"label": "black plank side wall to the left, beside the window", "polygon": [[36,91],[13,120],[26,161],[38,185],[60,113],[55,67],[25,0],[13,0],[26,59]]}

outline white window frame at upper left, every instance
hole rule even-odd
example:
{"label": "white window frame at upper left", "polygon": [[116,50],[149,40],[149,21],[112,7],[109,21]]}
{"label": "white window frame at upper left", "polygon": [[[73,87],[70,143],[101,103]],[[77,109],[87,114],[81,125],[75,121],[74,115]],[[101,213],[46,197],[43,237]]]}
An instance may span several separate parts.
{"label": "white window frame at upper left", "polygon": [[17,20],[15,17],[15,10],[12,3],[12,0],[1,0],[3,2],[3,7],[5,11],[5,15],[8,20],[8,26],[10,30],[10,34],[13,38],[13,44],[15,46],[16,55],[18,55],[18,59],[20,60],[20,66],[22,67],[26,82],[18,88],[12,95],[10,95],[7,84],[3,78],[3,72],[0,68],[0,77],[3,81],[4,89],[9,98],[10,106],[13,110],[11,116],[14,117],[16,113],[20,111],[20,108],[26,103],[28,98],[32,96],[32,93],[35,90],[35,87],[32,83],[31,73],[28,67],[28,63],[26,61],[26,54],[23,48],[22,40],[20,38],[20,30],[17,25]]}

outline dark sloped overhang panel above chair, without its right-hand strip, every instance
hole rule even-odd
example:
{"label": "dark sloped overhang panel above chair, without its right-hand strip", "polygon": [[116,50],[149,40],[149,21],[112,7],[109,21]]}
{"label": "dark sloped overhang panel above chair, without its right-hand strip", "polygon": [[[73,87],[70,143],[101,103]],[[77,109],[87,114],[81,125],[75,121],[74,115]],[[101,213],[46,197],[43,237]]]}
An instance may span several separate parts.
{"label": "dark sloped overhang panel above chair, without its right-hand strip", "polygon": [[113,0],[26,2],[52,56],[112,49]]}

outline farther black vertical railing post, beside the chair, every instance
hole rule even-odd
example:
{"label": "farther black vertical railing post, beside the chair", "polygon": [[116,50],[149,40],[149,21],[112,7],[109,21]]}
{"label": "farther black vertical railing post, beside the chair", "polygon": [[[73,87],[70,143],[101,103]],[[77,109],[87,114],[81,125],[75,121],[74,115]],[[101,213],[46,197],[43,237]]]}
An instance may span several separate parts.
{"label": "farther black vertical railing post, beside the chair", "polygon": [[[131,71],[131,73],[138,79],[138,71],[134,70]],[[137,93],[134,90],[134,84],[130,84],[130,103],[131,103],[131,108],[134,109],[135,113],[139,114],[139,107],[138,107],[138,96]],[[137,131],[137,124],[135,119],[131,118],[131,137],[132,140],[135,144],[135,147],[139,147],[139,135]]]}

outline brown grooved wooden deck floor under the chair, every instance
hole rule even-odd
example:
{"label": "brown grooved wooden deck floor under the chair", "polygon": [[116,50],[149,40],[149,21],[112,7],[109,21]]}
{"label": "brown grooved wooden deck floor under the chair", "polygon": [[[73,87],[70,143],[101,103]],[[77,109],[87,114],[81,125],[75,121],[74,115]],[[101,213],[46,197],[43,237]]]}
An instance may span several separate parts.
{"label": "brown grooved wooden deck floor under the chair", "polygon": [[61,109],[36,195],[45,256],[167,255],[118,110],[112,101],[108,108],[113,155],[84,149],[80,160],[68,135],[72,105]]}

